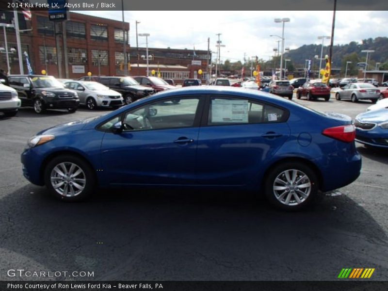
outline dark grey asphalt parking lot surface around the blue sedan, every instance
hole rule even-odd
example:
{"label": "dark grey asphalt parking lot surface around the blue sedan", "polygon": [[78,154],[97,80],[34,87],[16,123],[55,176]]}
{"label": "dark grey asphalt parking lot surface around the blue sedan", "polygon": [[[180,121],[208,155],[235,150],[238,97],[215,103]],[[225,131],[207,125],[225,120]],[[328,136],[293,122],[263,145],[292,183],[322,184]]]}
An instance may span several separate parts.
{"label": "dark grey asphalt parking lot surface around the blue sedan", "polygon": [[[371,105],[294,100],[352,118]],[[61,203],[22,176],[30,136],[106,112],[23,108],[0,119],[0,280],[52,279],[7,276],[17,268],[94,280],[336,280],[342,268],[375,268],[371,279],[388,280],[388,151],[357,144],[361,176],[297,213],[251,193],[187,189],[99,190]]]}

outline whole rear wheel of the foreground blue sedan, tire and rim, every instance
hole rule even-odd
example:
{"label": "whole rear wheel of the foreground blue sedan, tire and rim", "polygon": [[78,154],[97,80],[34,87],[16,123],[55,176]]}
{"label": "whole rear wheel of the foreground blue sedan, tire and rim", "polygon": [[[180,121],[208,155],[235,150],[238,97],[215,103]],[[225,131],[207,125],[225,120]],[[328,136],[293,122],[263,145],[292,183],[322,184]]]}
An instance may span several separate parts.
{"label": "whole rear wheel of the foreground blue sedan, tire and rim", "polygon": [[283,210],[301,210],[313,201],[317,193],[317,175],[301,162],[279,164],[265,179],[268,201]]}

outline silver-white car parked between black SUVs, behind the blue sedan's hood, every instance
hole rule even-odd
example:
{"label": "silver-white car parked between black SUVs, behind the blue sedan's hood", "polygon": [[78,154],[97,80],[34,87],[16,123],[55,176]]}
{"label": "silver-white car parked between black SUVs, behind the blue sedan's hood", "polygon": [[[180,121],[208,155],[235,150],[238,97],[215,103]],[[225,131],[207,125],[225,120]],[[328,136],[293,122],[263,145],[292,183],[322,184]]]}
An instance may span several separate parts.
{"label": "silver-white car parked between black SUVs, behind the blue sedan's hood", "polygon": [[65,87],[75,90],[80,98],[80,104],[86,105],[90,110],[96,109],[97,106],[115,109],[124,105],[124,99],[120,93],[98,82],[67,81]]}

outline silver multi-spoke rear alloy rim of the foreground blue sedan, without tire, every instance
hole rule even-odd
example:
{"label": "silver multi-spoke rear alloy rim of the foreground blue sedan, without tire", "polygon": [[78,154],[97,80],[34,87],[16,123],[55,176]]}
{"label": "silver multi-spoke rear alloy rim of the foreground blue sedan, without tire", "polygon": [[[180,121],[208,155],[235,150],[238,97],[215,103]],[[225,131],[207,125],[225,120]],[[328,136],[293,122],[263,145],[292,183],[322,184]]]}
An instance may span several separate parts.
{"label": "silver multi-spoke rear alloy rim of the foreground blue sedan, without tire", "polygon": [[275,198],[287,206],[303,203],[311,192],[311,181],[308,176],[296,169],[281,172],[273,184]]}

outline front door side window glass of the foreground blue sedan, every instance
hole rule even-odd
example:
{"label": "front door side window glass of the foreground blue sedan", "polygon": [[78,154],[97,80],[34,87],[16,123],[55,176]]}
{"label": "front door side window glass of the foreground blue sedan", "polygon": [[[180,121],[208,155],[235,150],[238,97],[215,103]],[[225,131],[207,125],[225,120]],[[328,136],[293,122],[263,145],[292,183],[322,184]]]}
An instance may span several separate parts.
{"label": "front door side window glass of the foreground blue sedan", "polygon": [[148,103],[124,116],[126,131],[193,127],[199,98],[173,97]]}

